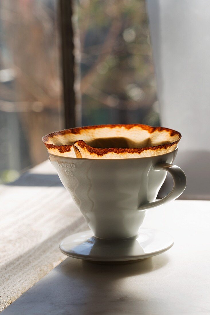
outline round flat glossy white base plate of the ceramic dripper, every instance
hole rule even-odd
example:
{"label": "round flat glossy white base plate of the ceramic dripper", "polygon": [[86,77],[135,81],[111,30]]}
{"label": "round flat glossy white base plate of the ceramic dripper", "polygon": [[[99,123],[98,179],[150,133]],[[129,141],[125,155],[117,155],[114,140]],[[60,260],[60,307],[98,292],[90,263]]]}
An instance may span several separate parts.
{"label": "round flat glossy white base plate of the ceramic dripper", "polygon": [[64,238],[60,250],[67,256],[100,263],[128,263],[159,255],[173,246],[171,235],[141,228],[136,238],[105,240],[93,237],[92,231]]}

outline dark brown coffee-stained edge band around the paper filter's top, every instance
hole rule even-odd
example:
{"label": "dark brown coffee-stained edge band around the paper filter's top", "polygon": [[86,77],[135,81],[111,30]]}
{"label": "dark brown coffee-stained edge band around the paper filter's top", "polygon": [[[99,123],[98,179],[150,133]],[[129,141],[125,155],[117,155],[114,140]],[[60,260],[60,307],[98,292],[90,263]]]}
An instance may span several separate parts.
{"label": "dark brown coffee-stained edge band around the paper filter's top", "polygon": [[[170,136],[174,136],[177,135],[178,136],[178,140],[174,141],[174,142],[170,142],[167,144],[162,144],[162,145],[158,145],[158,146],[147,146],[147,147],[143,147],[143,148],[95,148],[95,147],[91,147],[89,145],[87,145],[85,143],[85,141],[83,141],[82,139],[77,140],[75,142],[79,143],[79,145],[81,147],[85,147],[90,153],[96,153],[97,155],[104,155],[106,153],[109,152],[115,152],[115,153],[141,153],[144,150],[157,150],[157,149],[167,149],[170,146],[176,145],[178,144],[179,140],[181,139],[181,134],[173,129],[169,129],[169,128],[164,128],[164,127],[152,127],[152,126],[148,126],[148,125],[143,125],[143,124],[107,124],[107,125],[94,125],[94,126],[84,126],[84,127],[79,127],[79,128],[70,128],[70,129],[63,129],[63,130],[59,130],[59,131],[55,131],[52,132],[48,135],[45,135],[42,140],[45,144],[45,146],[48,149],[57,149],[60,153],[65,153],[65,152],[69,152],[72,148],[72,145],[54,145],[54,144],[50,144],[50,143],[46,143],[49,142],[50,139],[53,139],[54,136],[58,136],[58,135],[67,135],[67,134],[80,134],[81,131],[83,130],[88,130],[88,129],[96,129],[96,128],[104,128],[104,127],[108,127],[108,128],[115,128],[115,127],[124,127],[126,129],[131,129],[133,127],[140,127],[142,130],[146,130],[148,131],[148,133],[152,134],[155,131],[167,131],[169,133]],[[104,151],[105,150],[105,151]]]}

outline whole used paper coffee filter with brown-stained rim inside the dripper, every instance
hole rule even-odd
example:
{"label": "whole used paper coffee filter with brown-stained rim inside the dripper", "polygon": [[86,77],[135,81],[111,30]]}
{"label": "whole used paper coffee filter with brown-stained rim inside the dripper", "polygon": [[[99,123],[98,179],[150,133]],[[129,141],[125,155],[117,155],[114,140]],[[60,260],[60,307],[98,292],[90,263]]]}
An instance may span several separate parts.
{"label": "whole used paper coffee filter with brown-stained rim inside the dripper", "polygon": [[49,153],[62,157],[97,159],[149,157],[172,152],[178,131],[142,124],[72,128],[43,137]]}

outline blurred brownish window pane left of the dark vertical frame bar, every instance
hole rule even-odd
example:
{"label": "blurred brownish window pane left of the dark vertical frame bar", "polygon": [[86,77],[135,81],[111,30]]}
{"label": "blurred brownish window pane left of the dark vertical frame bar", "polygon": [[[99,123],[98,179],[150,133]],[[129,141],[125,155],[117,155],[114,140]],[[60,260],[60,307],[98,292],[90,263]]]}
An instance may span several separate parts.
{"label": "blurred brownish window pane left of the dark vertical frame bar", "polygon": [[0,3],[0,179],[46,159],[41,137],[62,125],[56,2]]}

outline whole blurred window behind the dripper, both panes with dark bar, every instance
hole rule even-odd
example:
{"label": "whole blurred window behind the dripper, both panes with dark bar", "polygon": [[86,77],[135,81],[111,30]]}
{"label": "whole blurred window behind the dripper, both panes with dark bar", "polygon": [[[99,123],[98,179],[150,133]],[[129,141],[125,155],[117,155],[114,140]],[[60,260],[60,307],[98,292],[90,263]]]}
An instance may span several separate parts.
{"label": "whole blurred window behind the dripper, both panes with dark bar", "polygon": [[103,123],[159,125],[145,2],[75,0],[73,20],[71,5],[0,3],[2,182],[47,158],[41,137],[51,131]]}

